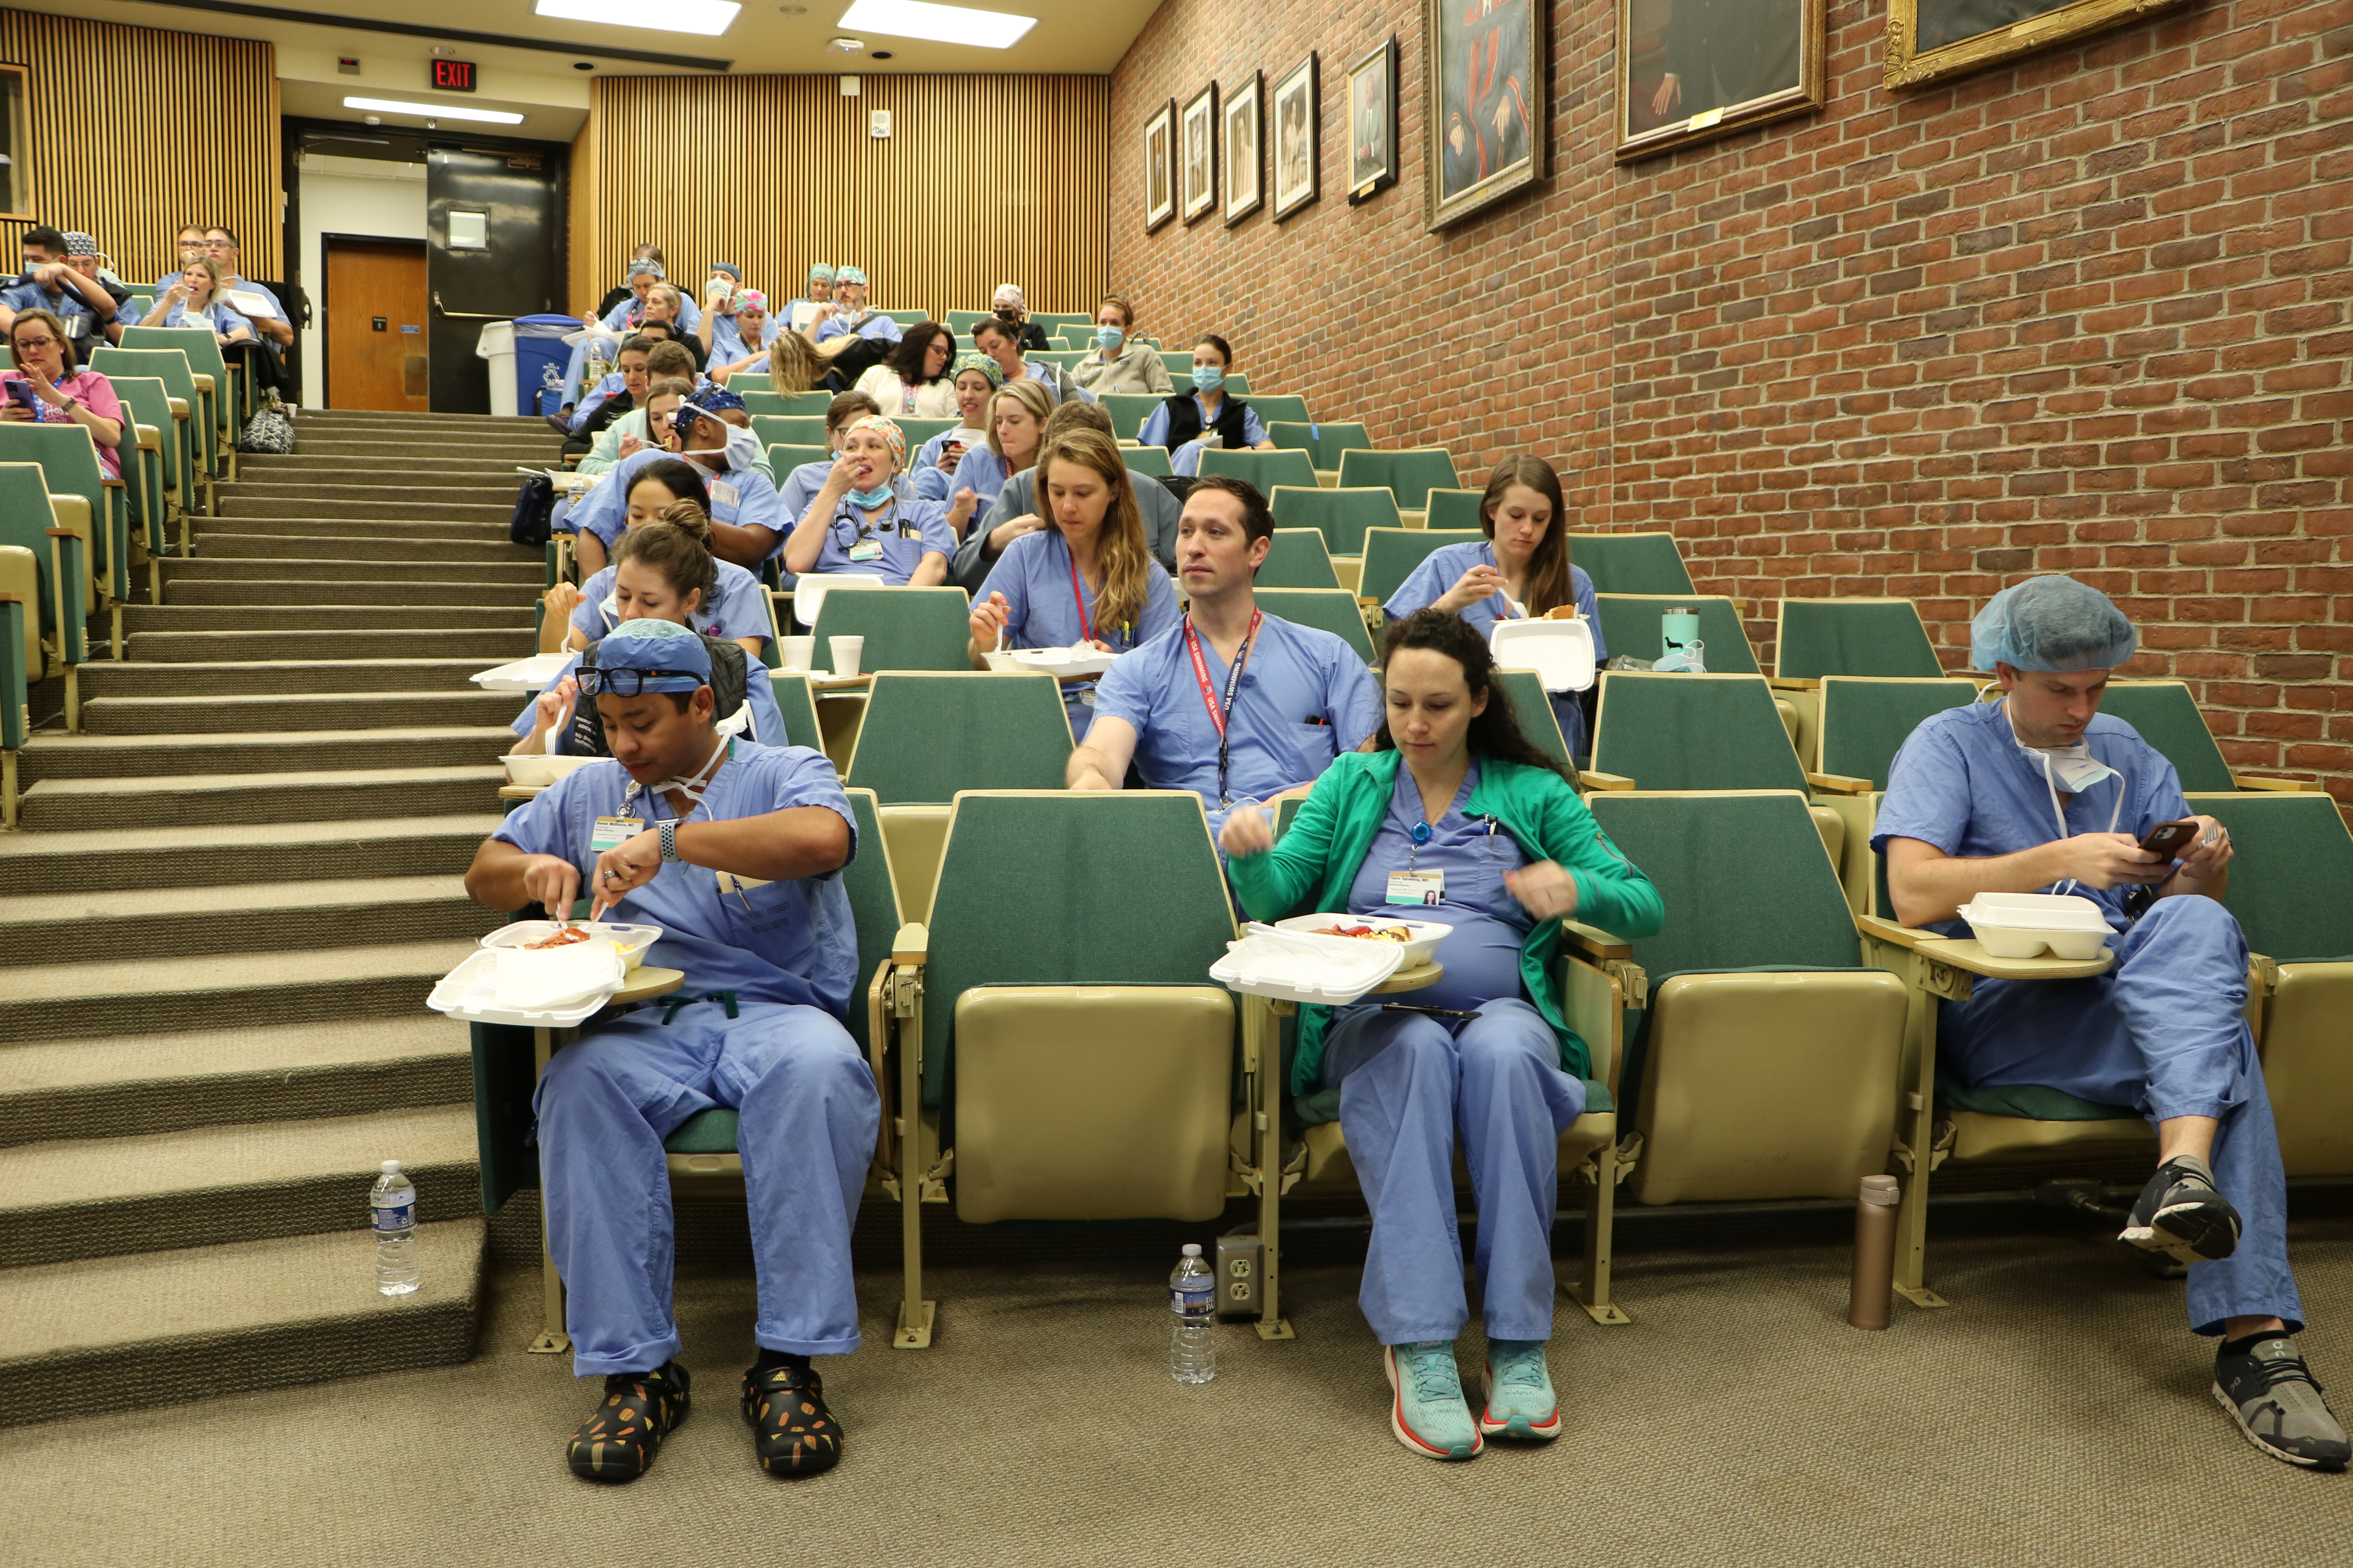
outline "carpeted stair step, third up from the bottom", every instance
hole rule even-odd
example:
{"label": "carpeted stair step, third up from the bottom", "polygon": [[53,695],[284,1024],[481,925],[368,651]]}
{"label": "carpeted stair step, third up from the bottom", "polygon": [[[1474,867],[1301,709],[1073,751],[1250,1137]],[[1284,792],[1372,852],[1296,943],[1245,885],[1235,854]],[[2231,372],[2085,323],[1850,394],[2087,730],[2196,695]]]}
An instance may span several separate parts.
{"label": "carpeted stair step, third up from the bottom", "polygon": [[0,1147],[471,1103],[471,1032],[438,1013],[0,1046]]}

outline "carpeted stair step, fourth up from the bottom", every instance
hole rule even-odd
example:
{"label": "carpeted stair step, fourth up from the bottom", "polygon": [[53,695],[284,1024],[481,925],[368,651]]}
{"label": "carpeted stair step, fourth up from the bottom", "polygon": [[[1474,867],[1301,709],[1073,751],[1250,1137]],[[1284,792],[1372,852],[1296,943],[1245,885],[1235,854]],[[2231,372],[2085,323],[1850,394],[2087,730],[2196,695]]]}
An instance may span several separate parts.
{"label": "carpeted stair step, fourth up from the bottom", "polygon": [[[0,990],[0,1039],[412,1016],[424,1011],[435,980],[468,952],[473,943],[428,940],[193,959],[19,964]],[[7,1185],[0,1180],[0,1199],[5,1194]]]}

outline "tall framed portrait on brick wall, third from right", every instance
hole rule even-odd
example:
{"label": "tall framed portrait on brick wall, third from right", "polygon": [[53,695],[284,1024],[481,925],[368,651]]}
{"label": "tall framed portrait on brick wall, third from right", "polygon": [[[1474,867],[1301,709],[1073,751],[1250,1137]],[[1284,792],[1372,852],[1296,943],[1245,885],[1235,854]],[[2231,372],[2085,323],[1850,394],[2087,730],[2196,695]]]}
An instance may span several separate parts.
{"label": "tall framed portrait on brick wall, third from right", "polygon": [[1537,0],[1421,0],[1424,221],[1445,228],[1544,179],[1551,94]]}

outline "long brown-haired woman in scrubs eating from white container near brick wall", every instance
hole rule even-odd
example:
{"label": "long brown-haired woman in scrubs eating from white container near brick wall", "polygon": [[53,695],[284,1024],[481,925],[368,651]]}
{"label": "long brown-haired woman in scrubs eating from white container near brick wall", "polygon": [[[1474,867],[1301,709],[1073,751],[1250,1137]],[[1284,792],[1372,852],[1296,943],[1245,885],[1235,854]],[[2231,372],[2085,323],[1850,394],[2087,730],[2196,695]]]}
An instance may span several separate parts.
{"label": "long brown-haired woman in scrubs eating from white container near brick wall", "polygon": [[[1569,562],[1567,515],[1560,475],[1551,463],[1534,456],[1504,458],[1494,465],[1478,505],[1478,527],[1487,543],[1431,550],[1398,592],[1388,595],[1381,614],[1402,621],[1417,609],[1442,609],[1475,625],[1482,637],[1492,637],[1497,621],[1541,618],[1574,604],[1593,632],[1598,670],[1609,649],[1602,646],[1593,578]],[[1584,693],[1553,691],[1551,698],[1560,738],[1567,741],[1572,757],[1584,757],[1591,750]]]}

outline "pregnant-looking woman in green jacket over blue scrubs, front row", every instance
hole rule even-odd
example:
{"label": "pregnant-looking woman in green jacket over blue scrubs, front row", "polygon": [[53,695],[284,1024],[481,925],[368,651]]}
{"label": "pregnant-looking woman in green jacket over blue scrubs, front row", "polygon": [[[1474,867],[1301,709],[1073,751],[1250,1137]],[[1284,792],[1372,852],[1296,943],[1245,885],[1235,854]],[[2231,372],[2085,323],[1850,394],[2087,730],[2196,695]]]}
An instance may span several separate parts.
{"label": "pregnant-looking woman in green jacket over blue scrubs, front row", "polygon": [[[1433,1460],[1487,1436],[1551,1439],[1560,1408],[1553,1204],[1560,1133],[1586,1110],[1586,1046],[1551,976],[1567,917],[1619,936],[1661,924],[1657,889],[1595,825],[1569,778],[1520,733],[1487,642],[1424,609],[1388,628],[1386,726],[1339,757],[1282,844],[1235,811],[1219,839],[1242,907],[1398,912],[1454,926],[1445,978],[1400,1011],[1301,1009],[1292,1093],[1339,1093],[1348,1157],[1372,1206],[1358,1302],[1395,1389],[1391,1432]],[[1452,1013],[1452,1016],[1449,1016]],[[1454,1128],[1478,1201],[1487,1319],[1478,1418],[1454,1366],[1468,1321],[1454,1229]]]}

